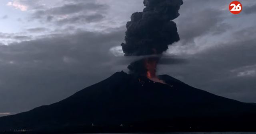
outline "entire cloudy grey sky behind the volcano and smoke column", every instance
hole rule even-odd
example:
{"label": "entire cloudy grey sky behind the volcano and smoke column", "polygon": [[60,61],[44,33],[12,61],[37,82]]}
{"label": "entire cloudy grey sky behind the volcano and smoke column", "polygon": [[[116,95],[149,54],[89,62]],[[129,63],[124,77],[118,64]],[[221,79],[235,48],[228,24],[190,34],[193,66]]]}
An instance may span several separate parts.
{"label": "entire cloudy grey sky behind the volcano and smoke column", "polygon": [[[158,74],[256,103],[256,1],[184,0]],[[143,0],[1,0],[0,116],[58,102],[117,71],[125,25]],[[183,62],[173,62],[175,59]]]}

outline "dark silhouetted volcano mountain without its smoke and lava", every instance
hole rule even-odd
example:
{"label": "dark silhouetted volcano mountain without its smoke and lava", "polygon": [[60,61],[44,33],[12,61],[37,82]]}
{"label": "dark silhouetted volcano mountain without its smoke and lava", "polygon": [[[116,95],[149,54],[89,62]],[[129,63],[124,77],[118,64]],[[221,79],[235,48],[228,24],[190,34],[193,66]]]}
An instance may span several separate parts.
{"label": "dark silhouetted volcano mountain without its smoke and lava", "polygon": [[[0,133],[255,131],[256,105],[168,75],[164,84],[116,72],[52,105],[0,118]],[[218,88],[218,87],[216,87]]]}

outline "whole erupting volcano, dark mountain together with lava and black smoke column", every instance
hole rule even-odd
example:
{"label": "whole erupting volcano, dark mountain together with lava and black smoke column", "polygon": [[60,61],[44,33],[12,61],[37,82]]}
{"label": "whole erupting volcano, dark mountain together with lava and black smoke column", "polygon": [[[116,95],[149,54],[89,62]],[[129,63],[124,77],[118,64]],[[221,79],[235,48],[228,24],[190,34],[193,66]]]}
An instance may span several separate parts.
{"label": "whole erupting volcano, dark mountain together with lava and black smoke column", "polygon": [[182,4],[144,0],[143,12],[132,14],[122,49],[143,58],[128,66],[130,74],[116,72],[52,105],[0,117],[0,134],[256,131],[256,104],[156,75],[162,53],[180,40],[172,20]]}

